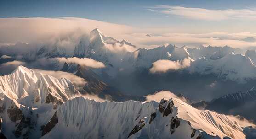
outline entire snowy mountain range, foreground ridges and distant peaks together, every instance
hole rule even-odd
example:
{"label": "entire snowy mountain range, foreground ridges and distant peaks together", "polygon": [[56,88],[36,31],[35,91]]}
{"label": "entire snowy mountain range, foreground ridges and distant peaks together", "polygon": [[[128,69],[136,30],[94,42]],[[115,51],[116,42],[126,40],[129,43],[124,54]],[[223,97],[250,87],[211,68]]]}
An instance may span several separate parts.
{"label": "entire snowy mountain range, foreground ridges and distant peaks together", "polygon": [[[137,48],[99,29],[68,41],[0,46],[0,137],[255,138],[255,50]],[[145,102],[162,90],[178,95]]]}

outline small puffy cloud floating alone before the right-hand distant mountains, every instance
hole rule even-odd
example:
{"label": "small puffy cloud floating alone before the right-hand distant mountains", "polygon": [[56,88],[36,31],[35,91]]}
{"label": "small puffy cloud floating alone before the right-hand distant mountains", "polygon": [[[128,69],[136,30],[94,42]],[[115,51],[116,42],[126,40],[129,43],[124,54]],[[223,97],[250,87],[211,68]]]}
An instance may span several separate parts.
{"label": "small puffy cloud floating alone before the right-hand distant mountains", "polygon": [[153,66],[149,71],[151,73],[166,73],[169,70],[178,70],[190,66],[190,59],[183,59],[182,61],[171,61],[171,60],[157,60],[152,63]]}

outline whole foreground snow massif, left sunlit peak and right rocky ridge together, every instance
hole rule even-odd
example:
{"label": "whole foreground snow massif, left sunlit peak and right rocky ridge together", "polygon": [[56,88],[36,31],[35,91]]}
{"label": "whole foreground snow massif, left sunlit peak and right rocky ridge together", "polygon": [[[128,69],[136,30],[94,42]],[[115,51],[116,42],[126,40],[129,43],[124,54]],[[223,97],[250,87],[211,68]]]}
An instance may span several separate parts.
{"label": "whole foreground snow massif, left sunlit peak and right rocky ridge together", "polygon": [[178,98],[96,102],[76,97],[67,79],[23,66],[0,76],[0,94],[1,136],[8,139],[245,139],[239,122]]}

